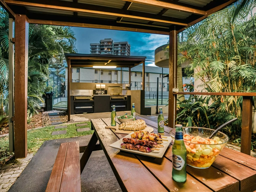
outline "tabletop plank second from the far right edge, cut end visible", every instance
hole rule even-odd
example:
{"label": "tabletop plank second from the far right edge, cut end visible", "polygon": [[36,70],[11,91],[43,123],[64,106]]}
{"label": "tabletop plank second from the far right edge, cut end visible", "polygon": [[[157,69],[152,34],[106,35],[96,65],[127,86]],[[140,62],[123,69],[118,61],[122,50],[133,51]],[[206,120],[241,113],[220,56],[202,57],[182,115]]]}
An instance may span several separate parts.
{"label": "tabletop plank second from the far right edge, cut end visible", "polygon": [[219,155],[212,166],[240,181],[240,190],[256,189],[256,171]]}

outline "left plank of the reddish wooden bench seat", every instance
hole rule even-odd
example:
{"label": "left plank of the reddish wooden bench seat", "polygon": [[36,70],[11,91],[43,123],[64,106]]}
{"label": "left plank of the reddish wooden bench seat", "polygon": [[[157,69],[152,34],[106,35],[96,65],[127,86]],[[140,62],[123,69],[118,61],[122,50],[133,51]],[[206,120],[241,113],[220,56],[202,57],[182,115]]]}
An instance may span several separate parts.
{"label": "left plank of the reddish wooden bench seat", "polygon": [[62,172],[65,163],[68,143],[61,143],[60,148],[52,168],[51,177],[46,187],[46,192],[59,192],[62,179]]}

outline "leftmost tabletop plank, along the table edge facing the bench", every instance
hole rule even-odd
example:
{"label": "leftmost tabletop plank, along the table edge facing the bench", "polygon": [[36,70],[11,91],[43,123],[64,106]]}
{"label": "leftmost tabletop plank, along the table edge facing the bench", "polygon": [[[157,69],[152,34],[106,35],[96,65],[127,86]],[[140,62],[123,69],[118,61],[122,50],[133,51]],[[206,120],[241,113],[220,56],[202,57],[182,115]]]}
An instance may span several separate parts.
{"label": "leftmost tabletop plank, along the table edge facing the bench", "polygon": [[[125,153],[109,145],[119,138],[101,119],[91,119],[92,127],[99,139],[102,149],[123,191],[155,192],[167,191],[166,188],[146,169],[146,167],[131,153]],[[139,183],[138,178],[149,181],[149,185]],[[153,187],[150,187],[153,186]]]}

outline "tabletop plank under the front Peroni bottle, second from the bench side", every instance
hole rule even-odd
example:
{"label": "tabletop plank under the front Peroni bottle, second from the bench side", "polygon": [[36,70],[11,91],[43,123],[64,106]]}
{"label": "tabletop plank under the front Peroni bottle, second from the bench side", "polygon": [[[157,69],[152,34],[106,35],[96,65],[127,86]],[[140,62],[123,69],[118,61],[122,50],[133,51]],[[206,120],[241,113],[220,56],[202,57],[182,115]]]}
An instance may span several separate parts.
{"label": "tabletop plank under the front Peroni bottle, second from the bench side", "polygon": [[[106,123],[106,125],[111,124],[110,118],[102,118],[102,120]],[[152,126],[152,125],[151,125]],[[152,126],[153,127],[153,126]],[[154,132],[157,132],[156,127],[153,127]],[[119,137],[119,134],[116,134]],[[123,134],[126,136],[127,134]],[[168,136],[167,133],[164,135]],[[119,139],[123,138],[123,136],[119,137]],[[196,185],[192,184],[195,181],[193,177],[187,174],[187,181],[186,183],[178,183],[172,179],[172,162],[167,160],[166,158],[152,158],[146,157],[142,155],[134,155],[142,164],[147,167],[148,170],[158,179],[161,183],[169,190],[169,191],[180,191],[180,192],[194,192],[197,190],[200,191],[212,191],[207,188],[205,185],[197,182]],[[144,160],[144,161],[143,161]],[[191,185],[190,185],[191,184]]]}

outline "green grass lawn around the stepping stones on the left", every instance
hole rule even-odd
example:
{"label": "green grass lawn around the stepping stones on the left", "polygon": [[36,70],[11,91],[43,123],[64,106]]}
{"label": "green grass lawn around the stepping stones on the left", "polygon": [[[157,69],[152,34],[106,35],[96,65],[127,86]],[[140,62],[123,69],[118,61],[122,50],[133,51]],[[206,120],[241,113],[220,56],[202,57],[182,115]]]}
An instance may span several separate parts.
{"label": "green grass lawn around the stepping stones on the left", "polygon": [[[44,143],[46,140],[77,137],[82,135],[90,135],[93,133],[93,130],[77,132],[78,127],[76,127],[76,124],[80,123],[69,124],[67,125],[67,128],[62,129],[54,129],[55,126],[48,126],[41,129],[28,131],[28,153],[36,153],[42,143]],[[91,122],[87,122],[87,124],[88,125],[79,128],[91,127]],[[62,135],[51,135],[53,131],[62,130],[67,130],[67,133]],[[14,153],[9,152],[9,137],[0,137],[0,165],[9,163],[12,159],[14,159]]]}

